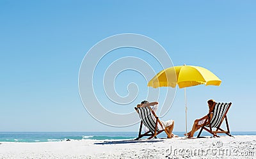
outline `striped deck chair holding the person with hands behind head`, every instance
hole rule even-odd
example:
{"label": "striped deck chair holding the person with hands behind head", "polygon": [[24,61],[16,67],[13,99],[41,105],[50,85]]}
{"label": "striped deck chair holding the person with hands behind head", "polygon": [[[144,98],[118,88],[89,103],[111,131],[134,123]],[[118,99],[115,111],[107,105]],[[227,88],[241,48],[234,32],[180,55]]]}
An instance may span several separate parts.
{"label": "striped deck chair holding the person with hands behind head", "polygon": [[[157,138],[156,135],[163,131],[166,132],[168,137],[170,137],[171,134],[169,134],[168,131],[163,127],[161,121],[156,116],[156,113],[154,112],[154,110],[152,110],[151,107],[134,107],[134,109],[138,112],[141,119],[139,135],[135,140],[138,140],[144,136],[150,136],[148,137],[148,139],[152,139],[153,137]],[[147,126],[149,131],[141,134],[143,124]],[[157,125],[160,125],[163,129],[159,130],[159,127]]]}

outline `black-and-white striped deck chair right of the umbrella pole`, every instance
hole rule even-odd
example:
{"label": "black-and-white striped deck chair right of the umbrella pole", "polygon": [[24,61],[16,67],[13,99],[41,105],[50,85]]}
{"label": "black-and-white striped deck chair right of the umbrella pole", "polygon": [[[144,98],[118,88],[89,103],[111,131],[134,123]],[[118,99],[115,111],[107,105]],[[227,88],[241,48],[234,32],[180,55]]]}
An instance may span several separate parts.
{"label": "black-and-white striped deck chair right of the umbrella pole", "polygon": [[[200,134],[202,133],[203,129],[211,133],[213,137],[219,137],[217,133],[226,133],[228,136],[232,137],[232,135],[230,135],[230,130],[228,127],[228,119],[227,119],[227,112],[232,103],[230,102],[230,103],[214,103],[214,104],[215,105],[213,105],[213,109],[209,110],[208,119],[205,120],[204,125],[202,126],[197,137],[200,137]],[[212,112],[212,118],[210,120],[211,112]],[[221,123],[223,122],[224,119],[226,121],[227,131],[220,128]],[[209,127],[209,128],[205,128],[205,127]],[[212,128],[216,128],[216,130],[212,131]]]}

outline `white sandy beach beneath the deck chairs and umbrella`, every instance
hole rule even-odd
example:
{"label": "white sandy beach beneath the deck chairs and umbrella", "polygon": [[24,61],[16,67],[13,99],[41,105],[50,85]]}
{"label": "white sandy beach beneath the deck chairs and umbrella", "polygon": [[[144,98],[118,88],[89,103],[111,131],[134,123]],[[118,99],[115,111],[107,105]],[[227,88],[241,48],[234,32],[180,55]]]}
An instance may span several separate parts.
{"label": "white sandy beach beneath the deck chairs and umbrella", "polygon": [[1,142],[0,158],[256,158],[256,136]]}

